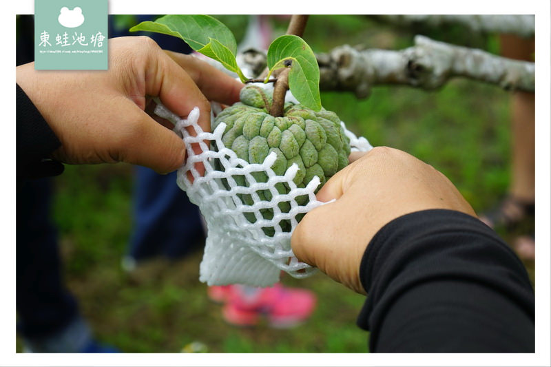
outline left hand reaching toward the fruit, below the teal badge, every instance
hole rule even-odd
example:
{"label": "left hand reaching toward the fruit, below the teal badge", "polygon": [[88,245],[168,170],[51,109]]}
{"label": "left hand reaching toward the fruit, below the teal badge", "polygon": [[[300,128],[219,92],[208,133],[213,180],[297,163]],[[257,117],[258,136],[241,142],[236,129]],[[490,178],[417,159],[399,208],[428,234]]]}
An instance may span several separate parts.
{"label": "left hand reaching toward the fruit, below the teal badge", "polygon": [[149,97],[179,116],[198,106],[204,131],[210,131],[209,100],[239,101],[242,83],[192,56],[163,52],[149,37],[110,39],[109,52],[105,71],[17,67],[17,83],[61,141],[56,160],[174,171],[184,164],[185,145],[145,112]]}

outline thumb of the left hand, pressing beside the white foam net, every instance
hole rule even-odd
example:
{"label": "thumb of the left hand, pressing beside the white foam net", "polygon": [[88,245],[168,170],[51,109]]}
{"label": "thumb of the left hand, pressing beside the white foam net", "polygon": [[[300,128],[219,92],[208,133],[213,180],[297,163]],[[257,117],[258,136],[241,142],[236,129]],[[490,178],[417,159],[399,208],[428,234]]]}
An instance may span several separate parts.
{"label": "thumb of the left hand, pressing beside the white foam net", "polygon": [[118,160],[149,167],[160,174],[183,166],[186,150],[178,135],[157,123],[134,103],[127,108],[125,122],[130,126],[117,145]]}

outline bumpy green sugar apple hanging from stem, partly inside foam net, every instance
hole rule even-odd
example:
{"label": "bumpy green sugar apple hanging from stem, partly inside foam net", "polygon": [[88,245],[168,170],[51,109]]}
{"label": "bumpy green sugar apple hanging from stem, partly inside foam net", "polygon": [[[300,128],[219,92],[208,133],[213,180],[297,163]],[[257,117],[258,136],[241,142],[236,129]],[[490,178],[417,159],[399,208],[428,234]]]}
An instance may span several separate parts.
{"label": "bumpy green sugar apple hanging from stem, partly inside foam net", "polygon": [[[293,182],[297,187],[306,187],[314,176],[318,176],[321,185],[317,192],[331,176],[349,163],[350,139],[344,134],[340,118],[325,109],[314,112],[293,103],[286,103],[283,117],[273,117],[269,114],[271,103],[271,91],[247,85],[241,90],[240,102],[218,114],[211,129],[214,131],[218,124],[224,122],[227,126],[222,143],[249,163],[262,163],[271,152],[275,152],[277,158],[271,167],[275,174],[282,176],[296,163],[298,173]],[[216,144],[213,149],[217,149]],[[215,167],[222,170],[219,161],[215,162]],[[252,176],[256,182],[268,180],[264,172],[255,172]],[[245,176],[232,177],[238,185],[249,186]],[[227,180],[224,182],[229,187]],[[281,194],[290,191],[289,185],[284,182],[275,185],[275,189]],[[257,194],[260,200],[269,201],[272,198],[269,190],[257,191]],[[241,194],[240,200],[245,205],[253,205],[249,194]],[[304,205],[308,196],[298,196],[296,201]],[[280,202],[278,207],[285,213],[291,209],[289,202]],[[262,209],[260,213],[265,219],[273,218],[271,209]],[[302,216],[296,219],[300,220]],[[254,213],[245,213],[245,217],[249,222],[256,222]],[[291,229],[289,220],[282,220],[279,224],[283,231]],[[269,236],[275,233],[273,227],[263,227],[262,230]]]}

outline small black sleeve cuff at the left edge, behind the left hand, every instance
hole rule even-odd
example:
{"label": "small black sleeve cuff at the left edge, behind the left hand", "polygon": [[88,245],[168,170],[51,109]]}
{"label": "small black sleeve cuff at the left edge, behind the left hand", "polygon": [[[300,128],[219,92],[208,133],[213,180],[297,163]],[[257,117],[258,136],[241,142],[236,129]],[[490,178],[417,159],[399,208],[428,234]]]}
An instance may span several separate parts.
{"label": "small black sleeve cuff at the left edge, behind the left hand", "polygon": [[61,143],[17,84],[16,104],[17,181],[61,174],[63,165],[49,159]]}

